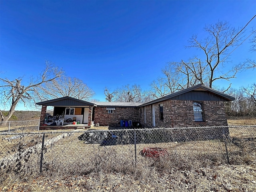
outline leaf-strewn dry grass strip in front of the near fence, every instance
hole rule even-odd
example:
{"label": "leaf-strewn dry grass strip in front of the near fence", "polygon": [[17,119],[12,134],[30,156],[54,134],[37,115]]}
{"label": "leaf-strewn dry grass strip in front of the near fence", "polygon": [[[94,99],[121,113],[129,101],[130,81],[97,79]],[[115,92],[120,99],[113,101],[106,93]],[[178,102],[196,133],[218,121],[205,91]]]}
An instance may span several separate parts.
{"label": "leaf-strewn dry grass strip in front of the near fence", "polygon": [[[134,168],[132,174],[99,172],[71,176],[38,176],[24,178],[8,174],[1,180],[1,191],[115,191],[115,192],[254,192],[256,191],[255,166],[229,166],[163,169],[157,166]],[[4,176],[2,175],[1,178]]]}

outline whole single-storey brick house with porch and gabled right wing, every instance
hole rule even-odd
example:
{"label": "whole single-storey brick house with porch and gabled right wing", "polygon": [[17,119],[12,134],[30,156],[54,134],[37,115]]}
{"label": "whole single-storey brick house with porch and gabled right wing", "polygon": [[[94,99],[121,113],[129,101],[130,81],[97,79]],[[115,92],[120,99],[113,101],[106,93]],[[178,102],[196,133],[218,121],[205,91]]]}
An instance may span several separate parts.
{"label": "whole single-storey brick house with porch and gabled right wing", "polygon": [[[79,121],[84,126],[128,126],[126,122],[132,121],[145,127],[175,128],[227,126],[224,102],[231,100],[234,98],[198,84],[147,103],[86,102],[66,96],[37,104],[42,105],[40,129],[58,117],[63,118],[64,125]],[[47,106],[54,107],[50,118]]]}

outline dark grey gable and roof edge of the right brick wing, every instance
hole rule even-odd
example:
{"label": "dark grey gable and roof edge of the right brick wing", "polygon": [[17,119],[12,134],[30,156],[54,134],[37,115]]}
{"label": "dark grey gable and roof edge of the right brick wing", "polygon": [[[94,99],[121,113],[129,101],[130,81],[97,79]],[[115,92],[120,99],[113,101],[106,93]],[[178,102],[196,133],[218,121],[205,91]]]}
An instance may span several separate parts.
{"label": "dark grey gable and roof edge of the right brick wing", "polygon": [[[188,94],[190,93],[190,94]],[[162,98],[144,103],[139,107],[143,107],[146,105],[154,104],[157,102],[161,102],[168,99],[175,99],[175,100],[221,100],[221,101],[233,101],[235,98],[204,86],[202,84],[198,84],[196,86],[178,91],[176,93],[164,96]]]}

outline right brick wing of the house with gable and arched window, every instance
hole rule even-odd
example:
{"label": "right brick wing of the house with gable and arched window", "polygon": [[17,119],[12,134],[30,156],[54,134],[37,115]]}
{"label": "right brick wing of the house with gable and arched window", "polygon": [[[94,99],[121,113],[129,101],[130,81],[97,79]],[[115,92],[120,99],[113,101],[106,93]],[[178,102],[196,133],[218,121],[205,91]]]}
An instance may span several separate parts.
{"label": "right brick wing of the house with gable and arched window", "polygon": [[138,106],[145,126],[227,126],[224,102],[234,100],[222,92],[198,84]]}

